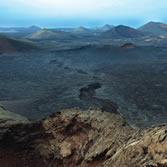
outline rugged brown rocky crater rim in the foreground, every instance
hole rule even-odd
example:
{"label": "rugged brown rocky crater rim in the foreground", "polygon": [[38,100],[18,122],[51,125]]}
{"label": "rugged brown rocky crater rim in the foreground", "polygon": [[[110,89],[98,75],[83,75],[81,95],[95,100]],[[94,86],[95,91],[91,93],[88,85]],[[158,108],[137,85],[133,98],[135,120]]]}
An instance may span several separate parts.
{"label": "rugged brown rocky crater rim in the foreground", "polygon": [[122,115],[78,108],[23,120],[4,131],[1,119],[0,167],[167,166],[167,125],[133,129]]}

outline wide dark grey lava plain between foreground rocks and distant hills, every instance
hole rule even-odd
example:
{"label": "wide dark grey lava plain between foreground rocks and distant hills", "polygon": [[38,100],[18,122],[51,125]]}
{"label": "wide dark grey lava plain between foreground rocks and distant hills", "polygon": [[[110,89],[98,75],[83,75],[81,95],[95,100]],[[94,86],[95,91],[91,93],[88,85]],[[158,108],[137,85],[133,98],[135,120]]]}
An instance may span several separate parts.
{"label": "wide dark grey lava plain between foreground rocks and distant hills", "polygon": [[[0,100],[10,111],[33,120],[71,107],[94,106],[113,112],[110,104],[114,104],[134,126],[164,123],[166,53],[165,47],[89,46],[52,53],[2,54]],[[94,83],[100,86],[88,90],[93,100],[82,100],[81,89]],[[24,110],[27,104],[30,107]]]}

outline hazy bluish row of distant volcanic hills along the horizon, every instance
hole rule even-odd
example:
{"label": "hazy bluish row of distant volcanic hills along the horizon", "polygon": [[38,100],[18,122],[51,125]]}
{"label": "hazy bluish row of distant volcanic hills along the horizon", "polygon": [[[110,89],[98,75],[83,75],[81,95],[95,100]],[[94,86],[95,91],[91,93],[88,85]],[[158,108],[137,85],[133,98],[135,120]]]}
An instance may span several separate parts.
{"label": "hazy bluish row of distant volcanic hills along the horizon", "polygon": [[[49,30],[45,31],[44,30]],[[73,39],[76,38],[138,38],[142,36],[167,36],[167,24],[161,22],[148,22],[135,29],[126,25],[113,26],[105,24],[101,27],[86,28],[83,26],[77,28],[40,28],[30,27],[0,27],[0,33],[10,37],[46,38],[46,39]],[[37,37],[38,36],[38,37]],[[39,37],[41,36],[41,37]],[[65,37],[66,36],[66,37]]]}

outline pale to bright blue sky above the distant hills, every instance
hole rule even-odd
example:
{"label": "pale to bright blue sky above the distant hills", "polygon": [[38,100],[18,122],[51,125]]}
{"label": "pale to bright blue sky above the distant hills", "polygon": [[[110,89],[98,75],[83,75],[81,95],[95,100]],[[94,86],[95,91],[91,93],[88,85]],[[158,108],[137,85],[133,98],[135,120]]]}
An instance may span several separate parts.
{"label": "pale to bright blue sky above the distant hills", "polygon": [[167,0],[0,0],[0,26],[138,27],[167,22]]}

